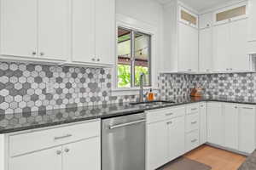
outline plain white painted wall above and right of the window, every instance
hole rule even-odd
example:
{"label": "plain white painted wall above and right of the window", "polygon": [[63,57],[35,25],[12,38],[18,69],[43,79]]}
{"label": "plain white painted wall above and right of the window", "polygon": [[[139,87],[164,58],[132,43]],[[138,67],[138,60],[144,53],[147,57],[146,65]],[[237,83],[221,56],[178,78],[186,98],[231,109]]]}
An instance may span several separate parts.
{"label": "plain white painted wall above and right of the window", "polygon": [[[152,26],[157,31],[155,47],[154,72],[160,71],[162,59],[163,6],[156,0],[116,0],[116,14],[122,14],[143,24]],[[154,77],[157,82],[157,77]],[[156,87],[156,84],[154,84]]]}

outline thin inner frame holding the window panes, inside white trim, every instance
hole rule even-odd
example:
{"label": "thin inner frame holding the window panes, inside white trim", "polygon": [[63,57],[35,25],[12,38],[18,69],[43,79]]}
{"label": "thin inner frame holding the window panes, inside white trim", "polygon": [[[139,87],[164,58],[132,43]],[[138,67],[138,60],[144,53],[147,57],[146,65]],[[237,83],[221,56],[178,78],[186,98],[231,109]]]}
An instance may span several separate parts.
{"label": "thin inner frame holding the window panes, inside white trim", "polygon": [[[144,36],[148,36],[149,37],[149,42],[148,42],[148,85],[146,86],[143,86],[144,88],[147,88],[147,87],[151,87],[152,86],[152,62],[151,62],[151,40],[152,40],[152,35],[150,34],[147,34],[147,33],[144,33],[142,31],[137,31],[137,30],[133,30],[131,28],[127,28],[127,27],[124,27],[124,26],[118,26],[118,31],[119,29],[122,29],[122,30],[125,30],[125,31],[131,31],[130,33],[130,54],[131,54],[131,87],[129,88],[137,88],[139,86],[136,86],[136,79],[135,79],[135,75],[136,75],[136,53],[137,51],[135,50],[135,45],[136,45],[136,34],[140,34],[140,35],[144,35]],[[117,35],[117,49],[118,49],[118,35]],[[116,56],[117,60],[119,59],[119,56],[117,54]],[[119,87],[118,86],[118,82],[119,82],[119,78],[118,78],[118,65],[119,63],[117,62],[117,74],[116,74],[116,84],[117,84],[117,88],[122,88],[122,87]]]}

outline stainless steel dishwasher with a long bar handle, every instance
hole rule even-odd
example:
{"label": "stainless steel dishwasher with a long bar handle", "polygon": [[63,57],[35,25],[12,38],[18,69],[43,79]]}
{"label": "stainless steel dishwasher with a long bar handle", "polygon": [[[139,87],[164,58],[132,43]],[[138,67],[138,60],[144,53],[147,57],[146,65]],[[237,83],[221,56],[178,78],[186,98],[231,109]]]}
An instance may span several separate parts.
{"label": "stainless steel dishwasher with a long bar handle", "polygon": [[102,170],[145,169],[145,114],[102,120]]}

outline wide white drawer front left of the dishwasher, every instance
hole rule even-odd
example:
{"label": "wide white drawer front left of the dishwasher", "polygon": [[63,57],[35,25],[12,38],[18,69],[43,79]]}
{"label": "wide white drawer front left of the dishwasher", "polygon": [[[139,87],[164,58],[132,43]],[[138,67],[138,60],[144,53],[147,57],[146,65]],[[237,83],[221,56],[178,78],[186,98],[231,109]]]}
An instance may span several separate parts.
{"label": "wide white drawer front left of the dishwasher", "polygon": [[18,156],[55,145],[66,144],[79,139],[100,137],[101,122],[84,122],[65,127],[38,130],[9,136],[9,154]]}

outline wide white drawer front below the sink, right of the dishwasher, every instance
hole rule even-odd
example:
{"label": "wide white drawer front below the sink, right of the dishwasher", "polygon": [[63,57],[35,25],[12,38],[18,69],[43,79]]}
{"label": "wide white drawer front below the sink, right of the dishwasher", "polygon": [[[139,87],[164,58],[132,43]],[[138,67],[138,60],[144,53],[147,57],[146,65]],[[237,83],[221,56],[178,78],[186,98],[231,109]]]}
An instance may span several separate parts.
{"label": "wide white drawer front below the sink, right of the dishwasher", "polygon": [[184,116],[185,112],[185,107],[169,107],[154,111],[146,111],[147,123],[165,121],[166,119],[176,116]]}

